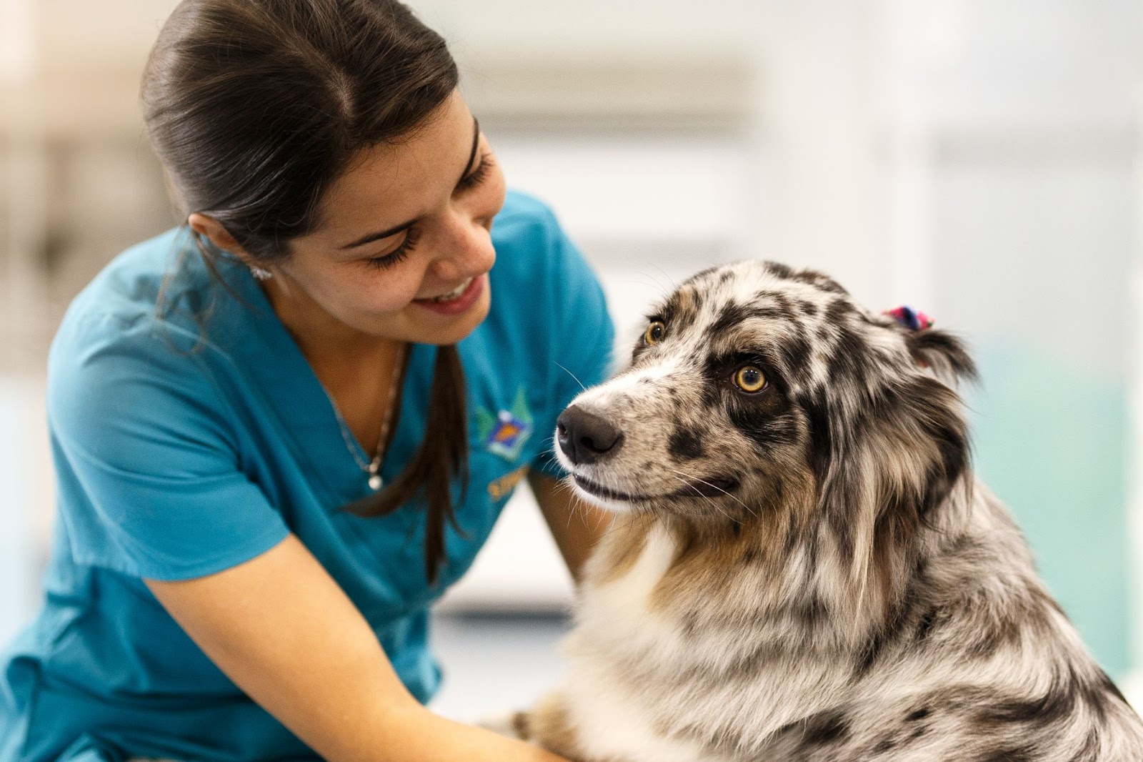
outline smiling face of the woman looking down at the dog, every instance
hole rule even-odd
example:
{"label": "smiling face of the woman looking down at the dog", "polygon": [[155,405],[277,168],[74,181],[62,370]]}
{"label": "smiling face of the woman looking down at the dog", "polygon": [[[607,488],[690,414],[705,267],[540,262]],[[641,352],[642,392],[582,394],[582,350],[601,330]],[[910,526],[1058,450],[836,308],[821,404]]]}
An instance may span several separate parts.
{"label": "smiling face of the woman looking down at the dog", "polygon": [[267,294],[295,332],[455,343],[488,313],[503,205],[504,175],[454,93],[409,138],[361,151]]}

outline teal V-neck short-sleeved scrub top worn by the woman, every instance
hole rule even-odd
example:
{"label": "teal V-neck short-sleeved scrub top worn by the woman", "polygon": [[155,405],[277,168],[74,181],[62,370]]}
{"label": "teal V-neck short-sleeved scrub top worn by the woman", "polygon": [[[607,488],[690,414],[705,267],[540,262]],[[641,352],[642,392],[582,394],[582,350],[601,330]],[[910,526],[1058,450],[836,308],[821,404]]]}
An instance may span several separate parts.
{"label": "teal V-neck short-sleeved scrub top worn by the woman", "polygon": [[[469,569],[522,469],[560,474],[549,451],[555,418],[581,382],[602,380],[613,343],[602,291],[546,207],[510,193],[491,235],[491,309],[458,344],[464,533],[448,530],[435,585],[421,505],[375,518],[342,510],[370,493],[366,474],[246,268],[221,264],[229,293],[176,229],[121,254],[75,299],[48,366],[58,515],[46,598],[0,658],[0,762],[317,759],[142,581],[210,574],[290,532],[369,621],[409,691],[433,696],[430,604]],[[434,355],[411,348],[386,482],[422,439]]]}

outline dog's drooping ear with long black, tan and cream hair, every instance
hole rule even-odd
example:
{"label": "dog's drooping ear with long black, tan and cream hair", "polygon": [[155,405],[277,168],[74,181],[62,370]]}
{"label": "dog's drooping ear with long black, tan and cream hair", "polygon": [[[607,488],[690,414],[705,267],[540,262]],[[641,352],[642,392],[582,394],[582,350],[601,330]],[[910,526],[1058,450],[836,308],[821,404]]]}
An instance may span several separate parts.
{"label": "dog's drooping ear with long black, tan and cream hair", "polygon": [[903,565],[916,558],[921,531],[953,518],[943,509],[969,468],[962,404],[918,371],[812,418],[822,527],[844,587],[876,616],[908,579]]}

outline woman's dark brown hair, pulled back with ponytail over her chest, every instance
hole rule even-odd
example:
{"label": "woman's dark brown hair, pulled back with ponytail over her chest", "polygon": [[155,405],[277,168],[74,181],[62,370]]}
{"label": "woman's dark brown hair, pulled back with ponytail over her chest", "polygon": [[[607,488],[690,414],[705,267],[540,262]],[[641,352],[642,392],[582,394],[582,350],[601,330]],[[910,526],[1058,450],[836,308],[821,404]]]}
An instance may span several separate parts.
{"label": "woman's dark brown hair, pulled back with ponytail over her chest", "polygon": [[[445,41],[392,0],[184,0],[159,33],[142,101],[183,219],[217,220],[257,262],[290,255],[320,225],[319,201],[359,151],[414,135],[457,86]],[[216,277],[218,249],[197,237]],[[439,347],[427,427],[400,477],[361,515],[423,494],[425,573],[456,525],[450,485],[466,481],[464,372]]]}

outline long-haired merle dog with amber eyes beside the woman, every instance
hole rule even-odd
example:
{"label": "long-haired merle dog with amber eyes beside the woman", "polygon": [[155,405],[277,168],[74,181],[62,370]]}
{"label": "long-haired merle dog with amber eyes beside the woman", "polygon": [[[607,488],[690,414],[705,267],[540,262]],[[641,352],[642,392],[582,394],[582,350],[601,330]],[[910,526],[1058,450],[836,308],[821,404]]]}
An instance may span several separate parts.
{"label": "long-haired merle dog with amber eyes beside the woman", "polygon": [[560,416],[615,511],[567,677],[581,762],[1143,761],[1143,723],[969,468],[952,335],[761,262],[698,273]]}

